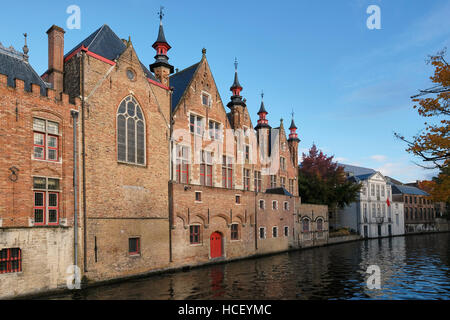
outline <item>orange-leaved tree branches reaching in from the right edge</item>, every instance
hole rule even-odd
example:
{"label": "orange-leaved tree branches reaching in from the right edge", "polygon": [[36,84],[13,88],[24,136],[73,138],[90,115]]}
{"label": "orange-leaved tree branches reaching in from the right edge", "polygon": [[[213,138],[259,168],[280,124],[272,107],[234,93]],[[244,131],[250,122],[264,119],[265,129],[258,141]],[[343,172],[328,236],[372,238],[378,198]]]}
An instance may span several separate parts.
{"label": "orange-leaved tree branches reaching in from the right edge", "polygon": [[[445,60],[446,49],[429,56],[427,61],[434,69],[430,77],[435,84],[433,88],[420,90],[412,97],[414,109],[420,116],[427,118],[425,128],[412,139],[399,133],[395,136],[406,142],[407,152],[412,153],[427,163],[428,169],[445,168],[450,165],[450,65]],[[432,122],[432,123],[429,123]]]}

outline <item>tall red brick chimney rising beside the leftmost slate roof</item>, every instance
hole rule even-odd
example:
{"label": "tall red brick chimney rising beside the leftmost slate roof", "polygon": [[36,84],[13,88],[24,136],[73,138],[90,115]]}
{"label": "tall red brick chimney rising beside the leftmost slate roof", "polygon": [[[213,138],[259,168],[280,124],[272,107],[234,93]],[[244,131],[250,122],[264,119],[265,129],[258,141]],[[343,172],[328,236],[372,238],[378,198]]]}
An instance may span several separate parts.
{"label": "tall red brick chimney rising beside the leftmost slate roof", "polygon": [[64,31],[58,26],[51,26],[48,35],[48,82],[53,84],[56,97],[60,99],[64,79]]}

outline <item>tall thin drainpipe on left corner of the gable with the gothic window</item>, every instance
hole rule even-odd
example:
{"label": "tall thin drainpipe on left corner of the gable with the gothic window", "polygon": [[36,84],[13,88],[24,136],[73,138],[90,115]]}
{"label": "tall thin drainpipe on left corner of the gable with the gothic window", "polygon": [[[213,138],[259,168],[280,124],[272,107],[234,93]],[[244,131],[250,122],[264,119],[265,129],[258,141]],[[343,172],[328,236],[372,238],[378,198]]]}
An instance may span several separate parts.
{"label": "tall thin drainpipe on left corner of the gable with the gothic window", "polygon": [[81,51],[81,155],[83,174],[83,267],[87,270],[87,217],[86,217],[86,141],[85,141],[85,103],[84,103],[84,60],[85,53]]}

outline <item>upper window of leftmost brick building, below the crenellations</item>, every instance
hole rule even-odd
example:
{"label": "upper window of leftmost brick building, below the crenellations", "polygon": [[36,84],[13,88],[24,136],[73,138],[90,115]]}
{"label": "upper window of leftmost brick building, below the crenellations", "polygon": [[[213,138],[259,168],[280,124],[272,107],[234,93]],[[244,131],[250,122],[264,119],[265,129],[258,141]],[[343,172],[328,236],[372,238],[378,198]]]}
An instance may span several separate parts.
{"label": "upper window of leftmost brick building, below the crenellations", "polygon": [[59,124],[54,121],[33,118],[33,158],[58,161]]}

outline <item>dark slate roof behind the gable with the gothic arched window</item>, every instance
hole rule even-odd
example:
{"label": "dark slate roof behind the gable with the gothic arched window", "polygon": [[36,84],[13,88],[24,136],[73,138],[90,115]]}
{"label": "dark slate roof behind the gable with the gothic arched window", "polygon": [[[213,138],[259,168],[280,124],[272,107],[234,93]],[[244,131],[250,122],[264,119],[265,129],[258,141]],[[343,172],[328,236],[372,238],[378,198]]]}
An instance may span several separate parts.
{"label": "dark slate roof behind the gable with the gothic arched window", "polygon": [[[106,24],[76,45],[64,58],[68,57],[82,45],[88,48],[89,51],[111,61],[117,59],[127,48],[123,41]],[[142,62],[141,66],[147,78],[158,81]]]}

